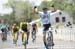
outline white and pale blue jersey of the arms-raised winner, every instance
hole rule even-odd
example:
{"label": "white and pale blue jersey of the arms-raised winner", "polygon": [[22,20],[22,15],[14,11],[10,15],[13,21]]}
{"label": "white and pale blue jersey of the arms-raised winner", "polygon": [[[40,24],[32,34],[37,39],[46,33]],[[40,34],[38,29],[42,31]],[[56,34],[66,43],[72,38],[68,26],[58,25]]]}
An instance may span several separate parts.
{"label": "white and pale blue jersey of the arms-raised winner", "polygon": [[39,12],[39,15],[41,17],[43,24],[49,24],[50,23],[50,12],[47,12],[47,14],[44,14],[43,12]]}

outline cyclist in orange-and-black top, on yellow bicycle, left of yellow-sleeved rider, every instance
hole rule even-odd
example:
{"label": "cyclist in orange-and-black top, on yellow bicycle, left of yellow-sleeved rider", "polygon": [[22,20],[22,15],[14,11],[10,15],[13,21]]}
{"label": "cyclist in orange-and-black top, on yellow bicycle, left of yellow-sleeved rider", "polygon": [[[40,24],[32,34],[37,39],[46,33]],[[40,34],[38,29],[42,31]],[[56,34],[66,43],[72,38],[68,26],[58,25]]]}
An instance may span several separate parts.
{"label": "cyclist in orange-and-black top, on yellow bicycle, left of yellow-sleeved rider", "polygon": [[13,32],[13,42],[16,45],[17,45],[17,40],[18,40],[18,35],[19,35],[18,31],[19,31],[19,27],[17,26],[16,23],[14,23],[12,26],[12,32]]}

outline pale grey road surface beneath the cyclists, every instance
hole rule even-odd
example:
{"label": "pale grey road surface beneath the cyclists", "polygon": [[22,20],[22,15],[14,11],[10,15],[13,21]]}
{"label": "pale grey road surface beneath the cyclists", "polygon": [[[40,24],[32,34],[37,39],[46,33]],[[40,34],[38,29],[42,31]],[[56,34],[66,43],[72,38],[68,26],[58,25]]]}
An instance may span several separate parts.
{"label": "pale grey road surface beneath the cyclists", "polygon": [[[75,41],[58,39],[58,36],[56,36],[56,38],[54,38],[54,43],[55,43],[54,49],[75,49]],[[15,46],[12,41],[12,36],[8,35],[8,40],[6,42],[2,42],[0,40],[0,49],[24,49],[21,42],[21,35],[19,35],[17,43],[18,43],[17,46]],[[43,44],[41,29],[39,29],[36,41],[34,43],[32,42],[32,38],[30,36],[27,49],[45,49]]]}

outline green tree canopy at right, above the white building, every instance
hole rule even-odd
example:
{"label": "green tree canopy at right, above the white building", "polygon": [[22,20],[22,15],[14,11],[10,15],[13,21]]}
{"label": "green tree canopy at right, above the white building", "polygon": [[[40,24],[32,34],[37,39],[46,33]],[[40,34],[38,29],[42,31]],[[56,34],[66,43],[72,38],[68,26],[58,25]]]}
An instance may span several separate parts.
{"label": "green tree canopy at right, above the white building", "polygon": [[[73,17],[74,23],[75,23],[75,1],[73,2],[68,2],[68,0],[52,0],[51,2],[44,1],[42,2],[42,5],[47,7],[51,7],[52,5],[55,6],[55,8],[60,9],[62,11],[67,12],[71,17]],[[50,4],[50,5],[48,5]],[[42,6],[41,5],[41,6]]]}

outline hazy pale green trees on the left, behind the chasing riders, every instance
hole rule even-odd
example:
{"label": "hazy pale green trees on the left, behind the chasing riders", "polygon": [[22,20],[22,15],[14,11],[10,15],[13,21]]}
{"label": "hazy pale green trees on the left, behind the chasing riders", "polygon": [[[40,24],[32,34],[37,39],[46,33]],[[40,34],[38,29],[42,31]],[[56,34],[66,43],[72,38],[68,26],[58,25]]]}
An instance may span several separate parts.
{"label": "hazy pale green trees on the left, behind the chasing riders", "polygon": [[[23,1],[20,1],[20,2],[15,2],[15,0],[8,0],[8,3],[5,4],[6,7],[12,7],[13,10],[19,10],[19,11],[22,11],[22,15],[20,16],[20,18],[16,18],[17,16],[15,16],[16,12],[13,11],[13,13],[10,15],[10,19],[12,20],[16,20],[16,21],[23,21],[25,19],[32,19],[32,17],[34,17],[35,15],[34,14],[31,14],[32,12],[32,4],[30,4],[28,1],[26,2],[23,2]],[[36,18],[36,17],[35,17]],[[28,20],[29,21],[29,20]]]}

